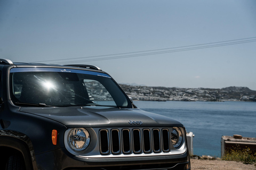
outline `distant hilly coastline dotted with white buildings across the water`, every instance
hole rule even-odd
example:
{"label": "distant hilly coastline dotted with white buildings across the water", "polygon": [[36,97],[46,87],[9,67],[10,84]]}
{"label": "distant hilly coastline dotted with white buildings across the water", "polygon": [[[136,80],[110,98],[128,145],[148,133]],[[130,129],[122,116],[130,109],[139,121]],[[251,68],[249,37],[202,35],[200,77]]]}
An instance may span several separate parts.
{"label": "distant hilly coastline dotted with white buildings across the water", "polygon": [[247,87],[168,88],[119,84],[133,100],[143,101],[256,101],[256,91]]}

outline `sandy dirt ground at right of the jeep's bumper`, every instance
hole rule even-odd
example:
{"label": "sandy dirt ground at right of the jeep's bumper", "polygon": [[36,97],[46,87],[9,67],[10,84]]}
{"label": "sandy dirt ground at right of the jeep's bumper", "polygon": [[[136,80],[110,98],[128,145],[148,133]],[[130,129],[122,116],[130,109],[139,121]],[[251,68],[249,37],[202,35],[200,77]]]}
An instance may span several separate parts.
{"label": "sandy dirt ground at right of the jeep's bumper", "polygon": [[212,169],[212,170],[256,170],[254,164],[243,164],[242,162],[225,161],[225,160],[198,160],[190,159],[192,170]]}

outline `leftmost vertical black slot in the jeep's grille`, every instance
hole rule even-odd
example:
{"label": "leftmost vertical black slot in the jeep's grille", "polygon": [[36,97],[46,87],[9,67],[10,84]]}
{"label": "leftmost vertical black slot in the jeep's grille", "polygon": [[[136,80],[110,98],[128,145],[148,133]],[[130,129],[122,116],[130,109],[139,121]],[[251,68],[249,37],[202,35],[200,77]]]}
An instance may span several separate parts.
{"label": "leftmost vertical black slot in the jeep's grille", "polygon": [[108,130],[105,129],[100,130],[100,152],[101,154],[109,153]]}

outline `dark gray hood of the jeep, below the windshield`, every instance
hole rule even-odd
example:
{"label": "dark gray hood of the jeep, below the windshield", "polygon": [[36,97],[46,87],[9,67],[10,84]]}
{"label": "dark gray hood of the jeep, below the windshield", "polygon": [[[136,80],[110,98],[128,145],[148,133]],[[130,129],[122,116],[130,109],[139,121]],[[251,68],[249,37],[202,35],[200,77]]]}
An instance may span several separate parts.
{"label": "dark gray hood of the jeep, below the windshield", "polygon": [[20,112],[50,118],[69,127],[183,126],[162,115],[115,107],[20,107]]}

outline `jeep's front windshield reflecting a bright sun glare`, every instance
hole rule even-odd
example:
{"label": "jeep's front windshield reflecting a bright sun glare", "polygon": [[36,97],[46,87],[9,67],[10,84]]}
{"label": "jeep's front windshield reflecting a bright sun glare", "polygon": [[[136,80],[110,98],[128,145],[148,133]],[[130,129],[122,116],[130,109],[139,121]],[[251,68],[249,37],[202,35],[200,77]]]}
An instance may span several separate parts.
{"label": "jeep's front windshield reflecting a bright sun glare", "polygon": [[10,73],[15,105],[132,107],[115,81],[102,72],[20,67]]}

